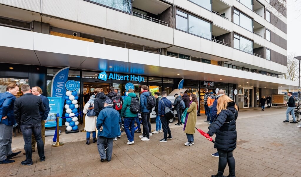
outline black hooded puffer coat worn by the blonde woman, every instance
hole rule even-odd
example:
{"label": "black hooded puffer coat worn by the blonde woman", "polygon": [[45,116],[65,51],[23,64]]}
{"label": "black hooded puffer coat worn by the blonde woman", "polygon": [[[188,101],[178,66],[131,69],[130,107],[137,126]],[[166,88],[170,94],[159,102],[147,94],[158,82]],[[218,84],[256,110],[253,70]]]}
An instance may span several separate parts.
{"label": "black hooded puffer coat worn by the blonde woman", "polygon": [[228,102],[226,110],[222,110],[216,121],[209,129],[208,134],[213,136],[216,133],[214,148],[224,151],[233,151],[236,148],[236,119],[238,112],[234,107],[235,102]]}

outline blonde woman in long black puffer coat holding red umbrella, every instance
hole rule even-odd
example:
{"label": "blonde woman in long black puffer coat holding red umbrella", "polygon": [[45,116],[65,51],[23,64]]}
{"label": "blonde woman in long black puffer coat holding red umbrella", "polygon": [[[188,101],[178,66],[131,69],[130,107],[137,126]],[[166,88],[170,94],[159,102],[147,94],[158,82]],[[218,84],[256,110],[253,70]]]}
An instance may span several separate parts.
{"label": "blonde woman in long black puffer coat holding red umbrella", "polygon": [[235,177],[235,159],[233,150],[236,148],[236,119],[237,106],[227,95],[222,95],[217,101],[217,118],[208,131],[210,136],[216,133],[214,148],[219,152],[219,169],[216,175],[211,177],[224,177],[223,173],[229,166],[228,177]]}

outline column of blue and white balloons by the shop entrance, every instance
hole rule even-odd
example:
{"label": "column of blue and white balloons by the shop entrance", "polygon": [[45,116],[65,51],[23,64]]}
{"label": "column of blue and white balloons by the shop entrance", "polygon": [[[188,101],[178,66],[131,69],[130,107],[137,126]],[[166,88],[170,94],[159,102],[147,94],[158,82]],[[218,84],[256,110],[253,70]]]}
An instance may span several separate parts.
{"label": "column of blue and white balloons by the shop entrance", "polygon": [[[76,91],[67,91],[66,92],[66,96],[65,96],[65,100],[66,100],[66,104],[65,104],[65,109],[66,109],[66,113],[65,113],[65,117],[70,117],[70,118],[66,118],[66,122],[65,122],[65,126],[66,126],[66,130],[67,131],[71,131],[71,130],[77,130],[78,129],[78,104],[77,104],[77,100],[78,100],[78,96],[77,96],[77,92]],[[77,114],[77,116],[75,116]]]}

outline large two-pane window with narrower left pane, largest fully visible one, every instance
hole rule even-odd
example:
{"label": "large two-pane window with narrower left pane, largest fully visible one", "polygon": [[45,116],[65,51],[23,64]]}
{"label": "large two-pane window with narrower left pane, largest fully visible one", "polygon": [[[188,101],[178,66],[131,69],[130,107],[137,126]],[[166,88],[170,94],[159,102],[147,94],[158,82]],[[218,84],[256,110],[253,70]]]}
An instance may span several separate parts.
{"label": "large two-pane window with narrower left pane, largest fully visible one", "polygon": [[179,10],[177,10],[176,13],[176,28],[178,30],[182,30],[209,40],[212,39],[211,23]]}

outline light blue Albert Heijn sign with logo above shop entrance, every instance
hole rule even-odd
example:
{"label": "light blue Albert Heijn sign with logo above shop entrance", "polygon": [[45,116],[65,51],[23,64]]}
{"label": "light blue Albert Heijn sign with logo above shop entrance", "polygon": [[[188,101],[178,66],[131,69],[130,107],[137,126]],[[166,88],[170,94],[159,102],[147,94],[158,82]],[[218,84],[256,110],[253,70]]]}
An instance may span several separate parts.
{"label": "light blue Albert Heijn sign with logo above shop entrance", "polygon": [[110,73],[107,75],[105,71],[98,74],[98,79],[107,81],[107,79],[113,80],[125,80],[125,81],[136,81],[136,82],[144,82],[144,77],[135,76],[135,75],[121,75],[116,73]]}

